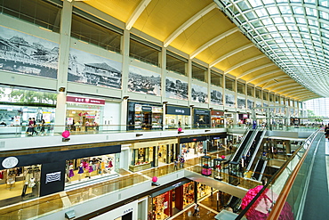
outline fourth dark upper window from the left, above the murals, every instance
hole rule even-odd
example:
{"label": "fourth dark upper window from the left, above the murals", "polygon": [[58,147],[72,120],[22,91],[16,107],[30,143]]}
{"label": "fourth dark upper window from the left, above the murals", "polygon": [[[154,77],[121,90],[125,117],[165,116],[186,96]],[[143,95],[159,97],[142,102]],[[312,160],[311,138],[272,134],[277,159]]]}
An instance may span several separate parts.
{"label": "fourth dark upper window from the left, above the murals", "polygon": [[175,73],[179,73],[181,75],[187,76],[187,64],[188,59],[181,57],[180,55],[177,55],[176,53],[172,53],[170,51],[167,51],[166,54],[166,65],[165,68],[167,70],[171,70]]}

